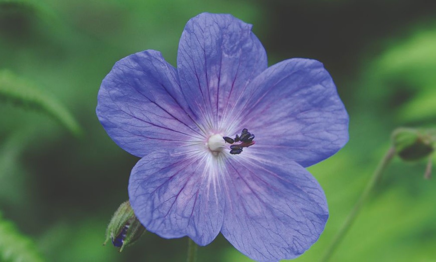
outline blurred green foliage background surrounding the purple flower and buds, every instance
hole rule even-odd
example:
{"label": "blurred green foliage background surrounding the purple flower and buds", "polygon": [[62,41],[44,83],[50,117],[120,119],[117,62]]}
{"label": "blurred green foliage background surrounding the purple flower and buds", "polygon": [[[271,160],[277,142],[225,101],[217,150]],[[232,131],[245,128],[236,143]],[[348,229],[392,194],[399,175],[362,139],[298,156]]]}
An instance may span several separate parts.
{"label": "blurred green foliage background surrounding the purple flower and buds", "polygon": [[[270,64],[322,61],[350,114],[348,144],[309,168],[330,219],[296,261],[321,257],[395,127],[434,126],[436,1],[0,0],[0,259],[185,260],[185,238],[102,246],[138,158],[107,136],[95,106],[120,58],[156,49],[175,65],[186,21],[203,11],[252,23]],[[395,158],[331,261],[436,261],[436,182],[424,169]],[[198,255],[251,261],[222,235]]]}

